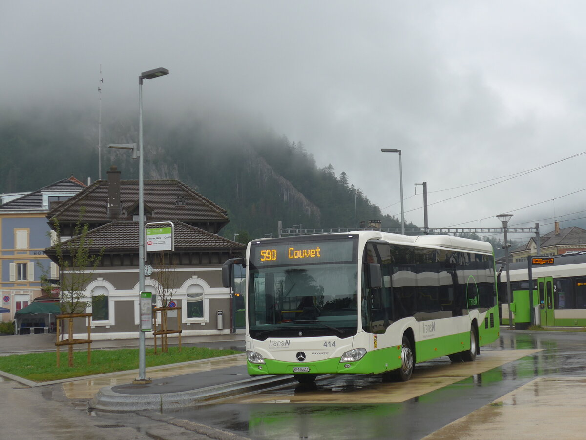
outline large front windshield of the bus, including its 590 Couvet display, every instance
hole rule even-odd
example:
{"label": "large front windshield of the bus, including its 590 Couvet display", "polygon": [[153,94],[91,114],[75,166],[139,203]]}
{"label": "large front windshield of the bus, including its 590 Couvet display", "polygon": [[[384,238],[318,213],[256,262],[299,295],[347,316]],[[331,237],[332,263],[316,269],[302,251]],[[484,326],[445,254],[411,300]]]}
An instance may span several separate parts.
{"label": "large front windshield of the bus, including its 590 Couvet display", "polygon": [[253,246],[248,279],[250,336],[265,340],[355,335],[355,249],[352,239]]}

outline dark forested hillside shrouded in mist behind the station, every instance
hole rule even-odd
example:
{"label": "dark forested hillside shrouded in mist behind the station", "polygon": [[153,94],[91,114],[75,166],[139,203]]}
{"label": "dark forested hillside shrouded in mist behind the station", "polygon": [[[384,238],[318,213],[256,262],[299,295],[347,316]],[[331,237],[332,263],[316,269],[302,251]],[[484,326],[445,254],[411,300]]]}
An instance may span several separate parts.
{"label": "dark forested hillside shrouded in mist behind the station", "polygon": [[[138,177],[137,161],[108,143],[138,140],[135,116],[102,125],[101,175],[117,165],[123,179]],[[177,178],[229,211],[222,233],[251,238],[277,233],[284,226],[353,228],[381,219],[383,227],[400,226],[394,217],[355,188],[352,177],[332,166],[319,167],[301,142],[267,128],[233,121],[213,123],[193,118],[145,119],[145,178]],[[98,178],[98,128],[83,111],[33,111],[8,114],[0,122],[0,193],[32,191],[62,178]],[[356,204],[356,215],[355,215]]]}

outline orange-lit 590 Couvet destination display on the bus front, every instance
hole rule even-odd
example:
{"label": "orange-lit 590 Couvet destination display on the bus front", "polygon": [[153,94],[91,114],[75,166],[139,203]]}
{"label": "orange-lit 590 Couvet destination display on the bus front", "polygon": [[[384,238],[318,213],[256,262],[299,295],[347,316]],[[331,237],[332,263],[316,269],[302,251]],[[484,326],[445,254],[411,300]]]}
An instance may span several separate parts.
{"label": "orange-lit 590 Couvet destination display on the bus front", "polygon": [[319,262],[350,262],[353,240],[287,243],[251,248],[251,261],[257,265],[312,264]]}

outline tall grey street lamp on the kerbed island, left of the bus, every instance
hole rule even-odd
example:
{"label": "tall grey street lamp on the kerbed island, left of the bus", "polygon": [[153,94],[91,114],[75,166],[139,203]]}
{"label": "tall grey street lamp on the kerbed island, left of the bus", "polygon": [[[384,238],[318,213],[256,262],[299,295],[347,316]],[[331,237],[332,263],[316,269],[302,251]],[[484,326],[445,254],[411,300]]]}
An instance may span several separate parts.
{"label": "tall grey street lamp on the kerbed island, left of the bus", "polygon": [[[145,208],[144,208],[144,177],[142,164],[144,161],[144,148],[142,145],[142,80],[154,79],[159,76],[169,75],[169,70],[158,69],[142,72],[138,77],[138,295],[145,289]],[[145,377],[145,334],[138,329],[138,379],[135,383],[148,383]]]}

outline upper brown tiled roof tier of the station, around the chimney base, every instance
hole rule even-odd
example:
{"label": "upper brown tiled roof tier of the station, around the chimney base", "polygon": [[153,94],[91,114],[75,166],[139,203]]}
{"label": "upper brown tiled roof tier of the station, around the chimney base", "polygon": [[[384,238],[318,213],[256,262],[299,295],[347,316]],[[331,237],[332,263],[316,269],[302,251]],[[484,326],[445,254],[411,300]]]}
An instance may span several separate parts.
{"label": "upper brown tiled roof tier of the station, around the chimney base", "polygon": [[[84,222],[110,221],[107,214],[108,181],[98,180],[74,197],[49,211],[59,221],[77,221],[81,207],[86,211]],[[177,204],[182,198],[183,205]],[[199,192],[179,180],[147,180],[144,182],[144,202],[152,210],[149,219],[227,222],[226,210],[220,208]],[[120,181],[121,215],[119,219],[131,219],[130,209],[138,204],[138,180]]]}

